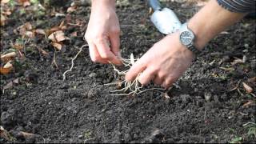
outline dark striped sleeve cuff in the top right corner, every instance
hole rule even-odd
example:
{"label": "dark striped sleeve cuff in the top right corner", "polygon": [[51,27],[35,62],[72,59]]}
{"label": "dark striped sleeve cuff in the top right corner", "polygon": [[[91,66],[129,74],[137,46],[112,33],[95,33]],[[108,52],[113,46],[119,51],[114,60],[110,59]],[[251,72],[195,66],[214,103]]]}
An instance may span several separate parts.
{"label": "dark striped sleeve cuff in the top right corner", "polygon": [[226,10],[235,13],[255,12],[256,0],[217,0]]}

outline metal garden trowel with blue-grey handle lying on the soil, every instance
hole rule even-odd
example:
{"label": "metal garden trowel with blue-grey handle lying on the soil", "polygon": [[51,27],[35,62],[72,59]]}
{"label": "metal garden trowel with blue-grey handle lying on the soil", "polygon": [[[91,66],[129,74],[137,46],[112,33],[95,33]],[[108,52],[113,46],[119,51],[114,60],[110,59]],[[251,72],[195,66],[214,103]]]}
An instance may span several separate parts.
{"label": "metal garden trowel with blue-grey handle lying on the soil", "polygon": [[172,34],[182,26],[174,11],[162,8],[158,0],[149,0],[149,5],[154,10],[150,20],[162,34]]}

